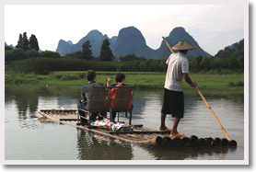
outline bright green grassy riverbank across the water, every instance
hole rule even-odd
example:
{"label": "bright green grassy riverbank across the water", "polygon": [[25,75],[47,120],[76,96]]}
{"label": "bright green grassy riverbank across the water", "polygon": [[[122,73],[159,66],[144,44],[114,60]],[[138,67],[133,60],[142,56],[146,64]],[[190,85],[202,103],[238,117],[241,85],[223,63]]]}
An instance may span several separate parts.
{"label": "bright green grassy riverbank across the water", "polygon": [[[117,72],[97,72],[98,83],[106,86],[106,79],[111,77],[115,83]],[[154,72],[123,72],[126,84],[137,85],[141,90],[162,90],[165,84],[165,73]],[[191,74],[202,92],[209,94],[243,94],[244,75],[197,75]],[[5,76],[6,85],[29,86],[73,86],[80,87],[87,84],[86,72],[52,72],[50,75],[17,74],[8,72]],[[197,94],[194,87],[182,81],[184,90]]]}

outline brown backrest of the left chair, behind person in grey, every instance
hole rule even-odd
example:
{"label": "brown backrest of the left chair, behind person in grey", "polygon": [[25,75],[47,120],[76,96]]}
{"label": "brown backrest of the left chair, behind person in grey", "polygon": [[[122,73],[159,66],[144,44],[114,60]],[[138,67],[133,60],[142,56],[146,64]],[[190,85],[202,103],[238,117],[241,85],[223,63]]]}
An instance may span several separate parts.
{"label": "brown backrest of the left chair, behind person in grey", "polygon": [[107,88],[110,89],[110,87],[107,86],[93,87],[92,94],[87,105],[87,110],[90,113],[110,111],[110,103],[106,100],[106,97],[109,96],[109,89]]}

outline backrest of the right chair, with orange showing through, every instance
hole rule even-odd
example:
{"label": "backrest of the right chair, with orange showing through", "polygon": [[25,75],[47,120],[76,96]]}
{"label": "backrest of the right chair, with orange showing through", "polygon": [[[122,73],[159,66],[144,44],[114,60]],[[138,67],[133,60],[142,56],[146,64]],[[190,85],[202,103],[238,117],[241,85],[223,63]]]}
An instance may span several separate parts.
{"label": "backrest of the right chair, with orange showing through", "polygon": [[115,86],[112,88],[111,108],[115,112],[132,109],[135,86]]}

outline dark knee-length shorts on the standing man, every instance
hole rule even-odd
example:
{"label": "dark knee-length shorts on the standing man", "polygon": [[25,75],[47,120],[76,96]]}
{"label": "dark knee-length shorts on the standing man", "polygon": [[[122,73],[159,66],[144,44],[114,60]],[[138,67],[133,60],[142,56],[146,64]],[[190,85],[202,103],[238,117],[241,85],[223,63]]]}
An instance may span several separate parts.
{"label": "dark knee-length shorts on the standing man", "polygon": [[172,91],[165,88],[164,103],[161,112],[165,114],[171,114],[173,118],[183,118],[183,92]]}

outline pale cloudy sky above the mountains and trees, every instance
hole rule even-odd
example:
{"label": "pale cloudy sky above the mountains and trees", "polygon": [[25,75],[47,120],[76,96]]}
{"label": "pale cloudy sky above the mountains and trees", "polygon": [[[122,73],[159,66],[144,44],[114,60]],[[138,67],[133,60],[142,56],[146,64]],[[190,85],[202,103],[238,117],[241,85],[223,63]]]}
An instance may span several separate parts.
{"label": "pale cloudy sky above the mountains and trees", "polygon": [[[241,2],[241,1],[240,1]],[[37,37],[41,51],[56,51],[59,40],[74,44],[98,29],[109,38],[123,28],[139,29],[157,50],[162,37],[183,27],[212,55],[244,39],[244,7],[228,5],[5,5],[5,41],[17,45],[19,34]]]}

